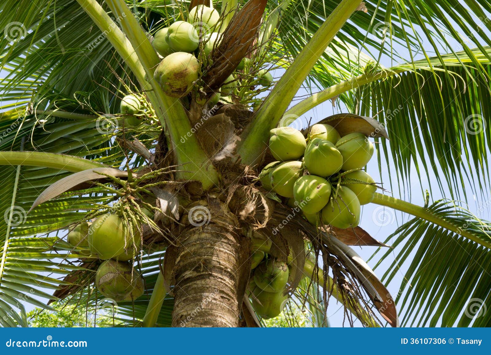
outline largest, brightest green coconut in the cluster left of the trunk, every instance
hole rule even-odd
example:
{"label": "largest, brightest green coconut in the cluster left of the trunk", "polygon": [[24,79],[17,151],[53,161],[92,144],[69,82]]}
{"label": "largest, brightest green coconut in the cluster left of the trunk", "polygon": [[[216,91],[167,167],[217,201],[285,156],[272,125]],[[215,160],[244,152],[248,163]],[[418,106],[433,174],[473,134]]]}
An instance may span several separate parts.
{"label": "largest, brightest green coconut in the cluster left of the trunk", "polygon": [[90,225],[87,236],[90,252],[107,260],[124,252],[123,220],[112,214],[100,216]]}

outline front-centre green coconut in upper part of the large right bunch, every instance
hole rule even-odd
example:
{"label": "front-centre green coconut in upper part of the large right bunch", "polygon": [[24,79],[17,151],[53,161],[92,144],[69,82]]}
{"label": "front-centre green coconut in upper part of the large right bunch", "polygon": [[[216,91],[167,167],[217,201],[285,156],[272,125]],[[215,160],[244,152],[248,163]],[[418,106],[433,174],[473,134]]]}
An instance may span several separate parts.
{"label": "front-centre green coconut in upper part of the large right bunch", "polygon": [[314,138],[305,149],[303,163],[311,174],[327,177],[341,170],[343,157],[330,141]]}

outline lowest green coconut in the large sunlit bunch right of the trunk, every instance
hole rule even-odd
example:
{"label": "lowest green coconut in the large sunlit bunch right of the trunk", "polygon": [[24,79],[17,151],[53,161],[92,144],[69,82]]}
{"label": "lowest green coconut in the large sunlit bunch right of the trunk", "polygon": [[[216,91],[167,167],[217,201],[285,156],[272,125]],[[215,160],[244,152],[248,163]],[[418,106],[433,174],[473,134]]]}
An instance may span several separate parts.
{"label": "lowest green coconut in the large sunlit bunch right of the trunk", "polygon": [[331,196],[322,209],[322,219],[324,223],[337,228],[355,228],[360,223],[360,202],[355,192],[340,186],[336,199]]}

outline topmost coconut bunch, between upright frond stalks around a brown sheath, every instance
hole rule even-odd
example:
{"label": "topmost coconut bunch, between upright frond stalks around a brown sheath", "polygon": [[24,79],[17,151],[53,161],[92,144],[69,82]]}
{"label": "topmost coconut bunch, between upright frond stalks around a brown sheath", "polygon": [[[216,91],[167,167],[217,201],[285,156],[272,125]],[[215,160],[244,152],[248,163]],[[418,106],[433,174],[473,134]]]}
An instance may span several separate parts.
{"label": "topmost coconut bunch, between upright frond stalks around a brown sheath", "polygon": [[[202,67],[211,62],[211,53],[221,40],[218,32],[221,27],[218,11],[197,5],[188,14],[188,21],[176,21],[169,27],[159,29],[152,41],[155,51],[163,57],[154,72],[154,78],[164,93],[175,98],[184,98],[193,88],[198,91],[196,82]],[[236,70],[244,71],[251,66],[251,59],[243,58]],[[240,87],[241,75],[232,73],[222,83],[218,92],[207,96],[200,104],[216,105],[218,100],[231,103],[230,95]],[[263,87],[273,83],[273,76],[267,70],[256,74],[255,84]]]}

